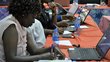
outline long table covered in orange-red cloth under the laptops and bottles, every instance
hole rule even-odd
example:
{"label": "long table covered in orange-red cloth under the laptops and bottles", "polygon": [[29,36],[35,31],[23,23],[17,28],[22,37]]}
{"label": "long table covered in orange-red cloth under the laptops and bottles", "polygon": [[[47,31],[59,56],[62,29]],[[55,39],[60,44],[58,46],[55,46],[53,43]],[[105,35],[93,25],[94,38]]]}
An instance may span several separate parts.
{"label": "long table covered in orange-red cloth under the laptops and bottles", "polygon": [[[72,44],[80,44],[82,48],[95,48],[99,40],[101,39],[103,33],[97,26],[97,24],[93,21],[90,16],[87,16],[85,20],[86,25],[89,27],[87,29],[81,29],[80,36],[76,38],[62,38],[60,40],[70,40]],[[50,47],[52,44],[52,37],[48,36],[46,39],[45,47]],[[71,46],[73,47],[73,46]],[[61,51],[69,58],[67,46],[61,46]],[[73,47],[74,48],[74,47]],[[104,59],[105,61],[105,59]]]}

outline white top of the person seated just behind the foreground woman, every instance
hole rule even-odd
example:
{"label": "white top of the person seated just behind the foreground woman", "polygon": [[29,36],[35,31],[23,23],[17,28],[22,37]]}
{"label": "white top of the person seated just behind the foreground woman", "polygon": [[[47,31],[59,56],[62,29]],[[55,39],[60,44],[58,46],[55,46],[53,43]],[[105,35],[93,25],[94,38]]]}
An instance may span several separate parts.
{"label": "white top of the person seated just behind the foreground woman", "polygon": [[36,42],[37,48],[42,48],[45,45],[46,38],[40,21],[35,19],[35,23],[33,23],[28,30],[31,30],[30,32]]}

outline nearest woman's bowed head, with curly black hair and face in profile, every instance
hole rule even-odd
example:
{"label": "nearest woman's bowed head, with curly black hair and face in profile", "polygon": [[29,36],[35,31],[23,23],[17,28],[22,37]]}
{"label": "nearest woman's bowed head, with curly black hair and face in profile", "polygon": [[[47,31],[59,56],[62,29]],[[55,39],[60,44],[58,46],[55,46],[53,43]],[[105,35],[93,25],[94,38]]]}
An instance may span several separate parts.
{"label": "nearest woman's bowed head, with curly black hair and face in profile", "polygon": [[9,13],[12,14],[24,27],[29,27],[34,22],[34,17],[39,13],[39,4],[33,0],[12,0],[9,4]]}

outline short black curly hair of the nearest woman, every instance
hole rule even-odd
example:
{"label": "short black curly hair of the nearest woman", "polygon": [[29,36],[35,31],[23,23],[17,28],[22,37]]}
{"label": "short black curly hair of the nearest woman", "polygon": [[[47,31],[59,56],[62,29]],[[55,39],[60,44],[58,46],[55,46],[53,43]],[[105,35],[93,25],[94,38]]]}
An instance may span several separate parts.
{"label": "short black curly hair of the nearest woman", "polygon": [[38,0],[11,0],[8,6],[9,14],[13,16],[39,13]]}

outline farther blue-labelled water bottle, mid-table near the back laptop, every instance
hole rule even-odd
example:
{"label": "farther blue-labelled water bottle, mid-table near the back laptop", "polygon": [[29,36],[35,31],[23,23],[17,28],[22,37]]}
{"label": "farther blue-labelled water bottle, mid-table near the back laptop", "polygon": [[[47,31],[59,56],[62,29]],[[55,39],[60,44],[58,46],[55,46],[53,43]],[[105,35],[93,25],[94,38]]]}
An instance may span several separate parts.
{"label": "farther blue-labelled water bottle, mid-table near the back laptop", "polygon": [[74,32],[74,36],[78,37],[80,35],[80,23],[81,23],[81,19],[80,17],[77,17],[75,20],[75,32]]}

